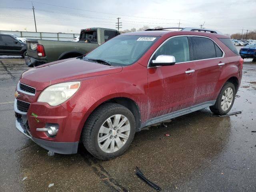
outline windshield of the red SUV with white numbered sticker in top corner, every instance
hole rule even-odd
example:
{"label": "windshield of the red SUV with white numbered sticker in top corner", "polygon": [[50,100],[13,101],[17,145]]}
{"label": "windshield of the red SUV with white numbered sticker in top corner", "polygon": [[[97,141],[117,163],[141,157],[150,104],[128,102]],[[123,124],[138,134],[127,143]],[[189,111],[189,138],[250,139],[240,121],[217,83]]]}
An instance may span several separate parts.
{"label": "windshield of the red SUV with white numbered sticker in top corner", "polygon": [[159,37],[117,36],[83,57],[84,60],[105,60],[114,66],[128,66],[136,62]]}

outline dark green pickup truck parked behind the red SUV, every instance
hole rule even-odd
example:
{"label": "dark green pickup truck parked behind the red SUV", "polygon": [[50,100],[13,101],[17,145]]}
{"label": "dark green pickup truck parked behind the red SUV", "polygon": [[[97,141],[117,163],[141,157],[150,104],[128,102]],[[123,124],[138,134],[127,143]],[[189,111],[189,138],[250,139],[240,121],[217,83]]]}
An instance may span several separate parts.
{"label": "dark green pickup truck parked behind the red SUV", "polygon": [[120,32],[107,28],[87,28],[80,32],[79,42],[27,39],[26,64],[29,67],[82,56]]}

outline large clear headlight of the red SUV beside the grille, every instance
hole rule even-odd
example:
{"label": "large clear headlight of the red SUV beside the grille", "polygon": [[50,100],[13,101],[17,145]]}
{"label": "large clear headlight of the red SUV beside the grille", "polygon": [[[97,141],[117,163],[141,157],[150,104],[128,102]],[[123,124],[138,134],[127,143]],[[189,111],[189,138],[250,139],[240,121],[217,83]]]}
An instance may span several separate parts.
{"label": "large clear headlight of the red SUV beside the grille", "polygon": [[57,106],[68,100],[80,87],[80,82],[66,82],[51,85],[40,94],[37,102],[46,102]]}

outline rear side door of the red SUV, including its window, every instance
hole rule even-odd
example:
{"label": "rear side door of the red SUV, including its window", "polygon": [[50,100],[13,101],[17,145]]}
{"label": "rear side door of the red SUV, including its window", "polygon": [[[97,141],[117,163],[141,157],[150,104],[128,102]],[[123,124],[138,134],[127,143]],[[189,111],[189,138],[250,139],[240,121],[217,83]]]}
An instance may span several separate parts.
{"label": "rear side door of the red SUV, including its window", "polygon": [[215,100],[215,88],[225,63],[224,52],[210,38],[190,37],[195,64],[196,86],[194,105]]}

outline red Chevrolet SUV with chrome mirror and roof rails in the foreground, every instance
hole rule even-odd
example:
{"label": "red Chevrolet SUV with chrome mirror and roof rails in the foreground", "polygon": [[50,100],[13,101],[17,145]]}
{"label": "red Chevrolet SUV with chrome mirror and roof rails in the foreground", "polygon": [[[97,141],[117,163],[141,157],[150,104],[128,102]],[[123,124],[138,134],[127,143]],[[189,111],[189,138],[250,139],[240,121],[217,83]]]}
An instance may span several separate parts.
{"label": "red Chevrolet SUV with chrome mirror and roof rails in the foreground", "polygon": [[230,111],[243,60],[212,30],[147,30],[22,74],[16,128],[43,148],[95,157],[121,155],[141,128],[210,107]]}

